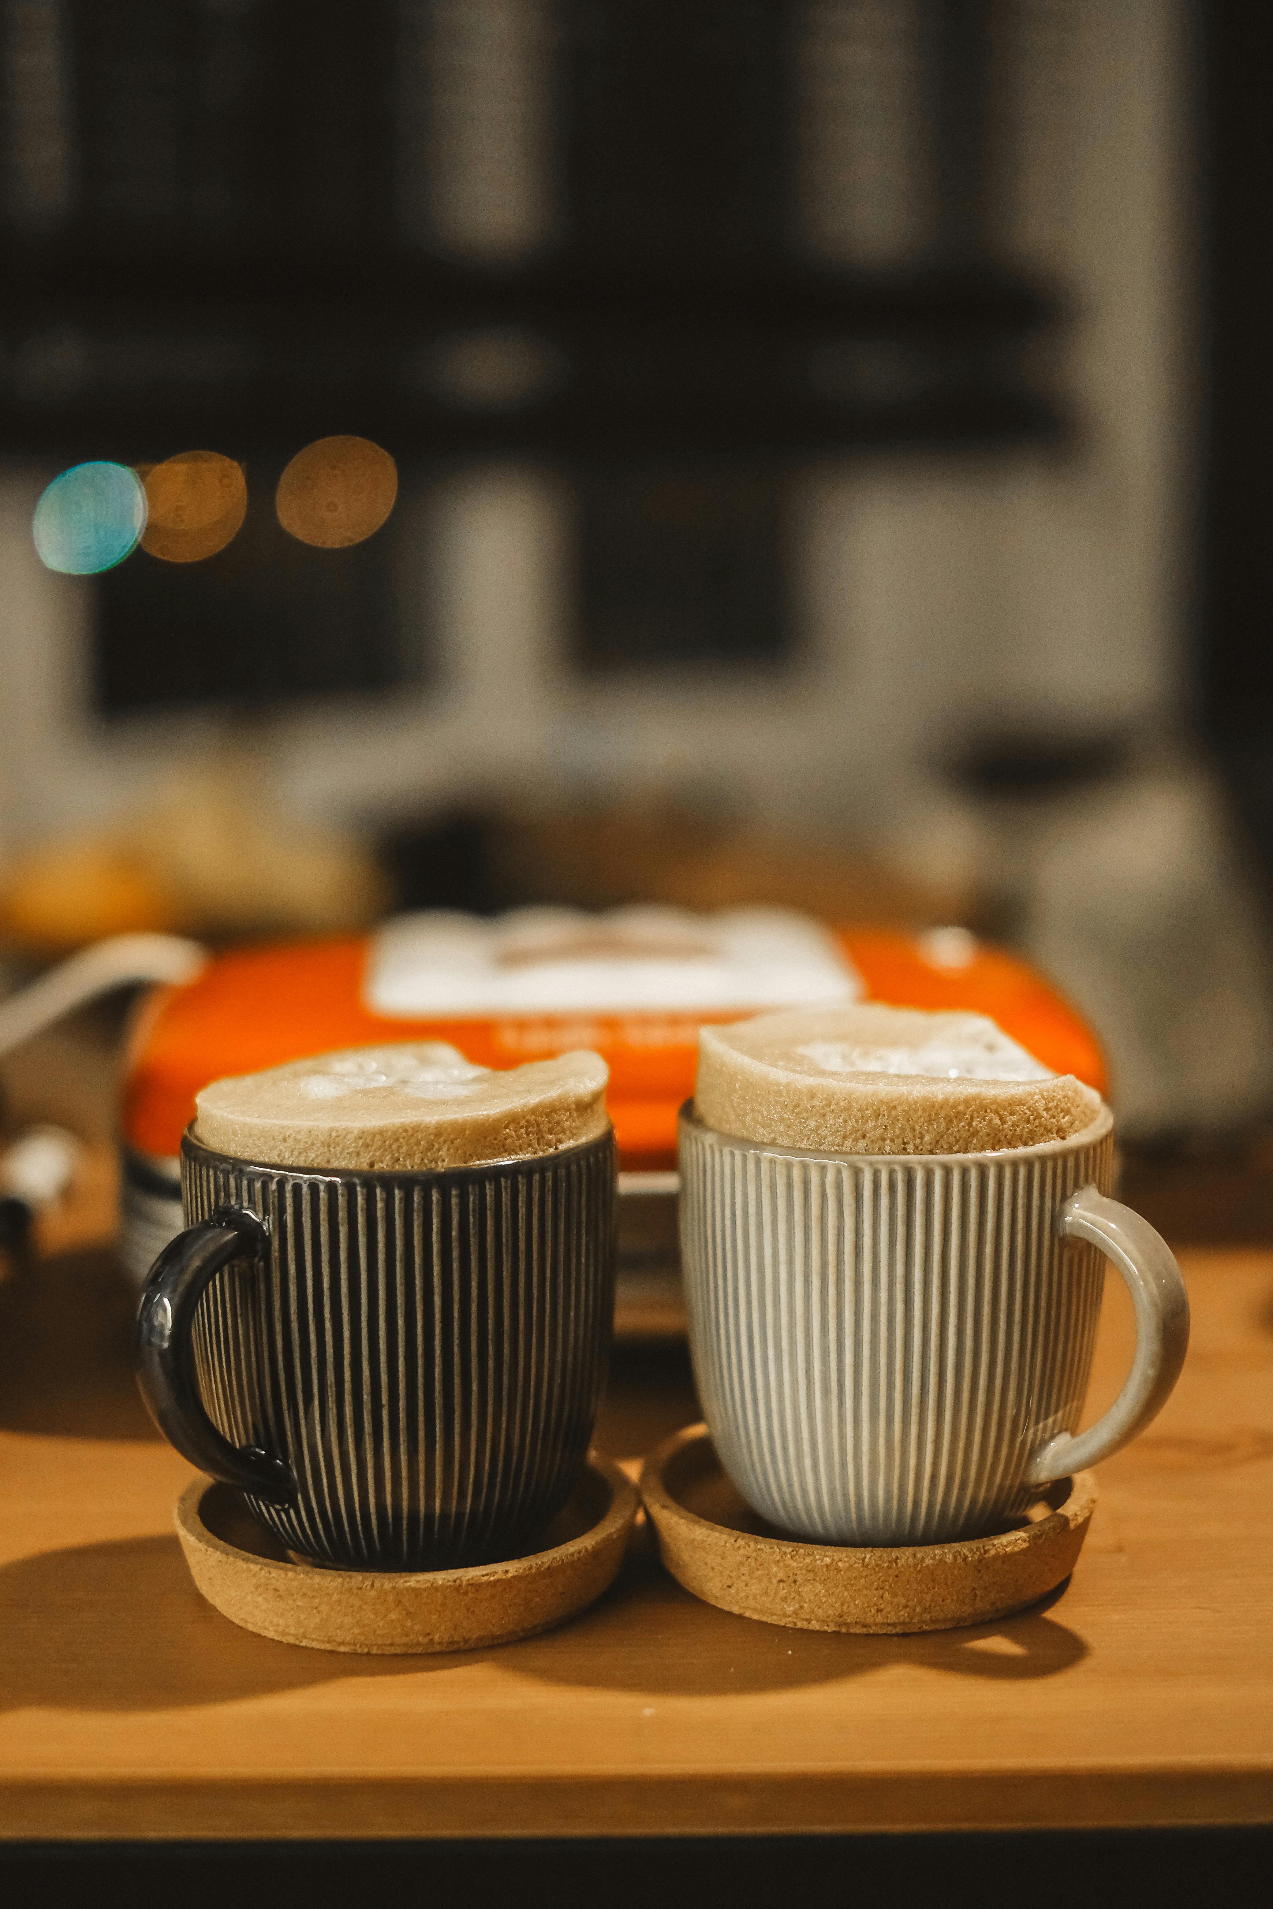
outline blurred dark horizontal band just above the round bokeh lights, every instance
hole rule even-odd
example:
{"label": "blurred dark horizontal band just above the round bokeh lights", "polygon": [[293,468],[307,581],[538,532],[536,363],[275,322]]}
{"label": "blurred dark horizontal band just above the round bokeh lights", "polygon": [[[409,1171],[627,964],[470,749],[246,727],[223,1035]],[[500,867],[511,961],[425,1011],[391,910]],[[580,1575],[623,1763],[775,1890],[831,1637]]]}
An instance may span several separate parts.
{"label": "blurred dark horizontal band just above the round bokeh lights", "polygon": [[[1061,317],[1000,275],[523,273],[345,256],[65,263],[10,281],[0,443],[59,456],[355,430],[395,456],[802,454],[1052,437],[1031,344]],[[147,296],[149,294],[149,296]]]}

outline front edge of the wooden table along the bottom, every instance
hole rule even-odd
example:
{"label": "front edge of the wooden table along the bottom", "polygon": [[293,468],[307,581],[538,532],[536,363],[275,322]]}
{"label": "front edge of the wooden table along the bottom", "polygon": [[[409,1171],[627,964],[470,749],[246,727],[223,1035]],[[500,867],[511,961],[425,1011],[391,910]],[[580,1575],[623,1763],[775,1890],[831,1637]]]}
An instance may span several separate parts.
{"label": "front edge of the wooden table along the bottom", "polygon": [[[0,1842],[712,1836],[1273,1823],[1273,1764],[0,1783]],[[605,1825],[599,1829],[599,1825]]]}

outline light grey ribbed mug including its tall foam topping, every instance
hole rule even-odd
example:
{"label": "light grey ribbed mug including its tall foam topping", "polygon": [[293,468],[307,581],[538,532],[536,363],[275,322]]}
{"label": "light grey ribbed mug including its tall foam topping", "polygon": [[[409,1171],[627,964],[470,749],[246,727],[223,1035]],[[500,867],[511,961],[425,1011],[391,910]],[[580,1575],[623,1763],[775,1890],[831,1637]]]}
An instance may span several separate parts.
{"label": "light grey ribbed mug including its tall foam topping", "polygon": [[[1176,1384],[1185,1287],[1109,1197],[1109,1109],[981,1016],[863,1006],[704,1029],[679,1159],[704,1416],[783,1533],[1004,1529],[1136,1437]],[[1136,1355],[1076,1432],[1105,1262],[1132,1294]]]}

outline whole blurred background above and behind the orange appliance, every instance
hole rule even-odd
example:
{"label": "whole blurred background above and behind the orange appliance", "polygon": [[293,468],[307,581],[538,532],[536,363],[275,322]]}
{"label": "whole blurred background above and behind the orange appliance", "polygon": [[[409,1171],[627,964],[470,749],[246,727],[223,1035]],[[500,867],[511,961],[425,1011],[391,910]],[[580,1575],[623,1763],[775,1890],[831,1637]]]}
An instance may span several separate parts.
{"label": "whole blurred background above and behind the orange appliance", "polygon": [[0,0],[4,985],[962,924],[1130,1140],[1267,1149],[1256,65],[1187,0]]}

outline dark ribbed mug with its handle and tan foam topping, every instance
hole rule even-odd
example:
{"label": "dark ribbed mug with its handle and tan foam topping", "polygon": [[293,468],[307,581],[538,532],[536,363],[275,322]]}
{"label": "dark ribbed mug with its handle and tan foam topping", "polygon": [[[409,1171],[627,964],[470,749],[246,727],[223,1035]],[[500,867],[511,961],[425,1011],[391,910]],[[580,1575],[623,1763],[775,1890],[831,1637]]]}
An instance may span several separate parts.
{"label": "dark ribbed mug with its handle and tan foam topping", "polygon": [[181,1143],[139,1384],[300,1558],[519,1556],[578,1483],[615,1279],[607,1071],[429,1042],[214,1082]]}

